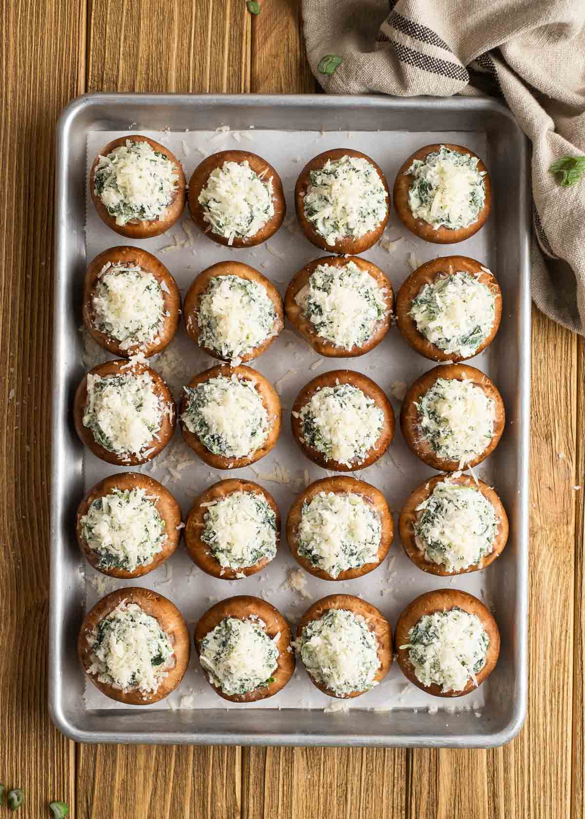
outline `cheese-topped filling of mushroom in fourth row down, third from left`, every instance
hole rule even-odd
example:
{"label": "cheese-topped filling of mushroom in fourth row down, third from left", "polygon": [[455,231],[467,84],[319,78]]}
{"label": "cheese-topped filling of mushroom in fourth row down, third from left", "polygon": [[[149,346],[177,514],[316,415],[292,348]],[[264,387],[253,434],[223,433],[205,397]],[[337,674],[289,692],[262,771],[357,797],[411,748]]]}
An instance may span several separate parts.
{"label": "cheese-topped filling of mushroom in fourth row down, third from left", "polygon": [[320,492],[303,504],[298,553],[331,577],[348,568],[378,562],[382,537],[379,514],[355,492]]}

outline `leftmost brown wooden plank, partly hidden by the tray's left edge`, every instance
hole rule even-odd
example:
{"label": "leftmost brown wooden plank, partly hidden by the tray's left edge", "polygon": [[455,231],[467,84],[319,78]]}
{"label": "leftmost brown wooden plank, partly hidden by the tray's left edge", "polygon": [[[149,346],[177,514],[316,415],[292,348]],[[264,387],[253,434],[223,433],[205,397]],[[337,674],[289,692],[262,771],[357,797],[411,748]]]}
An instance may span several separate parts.
{"label": "leftmost brown wooden plank, partly hidden by the tray's left edge", "polygon": [[75,746],[47,709],[47,350],[54,125],[84,62],[84,2],[0,3],[0,781],[25,790],[23,819],[75,804]]}

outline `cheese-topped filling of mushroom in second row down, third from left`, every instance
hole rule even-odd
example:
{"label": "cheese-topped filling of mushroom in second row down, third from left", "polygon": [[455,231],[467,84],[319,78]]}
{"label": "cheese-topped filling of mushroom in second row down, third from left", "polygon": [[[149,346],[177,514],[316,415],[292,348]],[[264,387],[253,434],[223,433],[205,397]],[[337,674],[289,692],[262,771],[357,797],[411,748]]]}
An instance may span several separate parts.
{"label": "cheese-topped filling of mushroom in second row down, third from left", "polygon": [[315,333],[351,350],[365,344],[388,315],[387,291],[355,262],[343,267],[318,265],[295,296]]}

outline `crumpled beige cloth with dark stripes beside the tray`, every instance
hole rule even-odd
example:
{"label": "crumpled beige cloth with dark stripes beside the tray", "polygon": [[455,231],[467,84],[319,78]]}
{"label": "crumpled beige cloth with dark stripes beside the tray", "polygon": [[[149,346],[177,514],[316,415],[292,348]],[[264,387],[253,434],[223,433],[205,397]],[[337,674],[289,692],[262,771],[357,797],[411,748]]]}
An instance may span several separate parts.
{"label": "crumpled beige cloth with dark stripes beside the tray", "polygon": [[[503,94],[533,146],[533,300],[585,334],[585,176],[561,187],[549,171],[585,155],[585,0],[303,0],[302,11],[330,93]],[[318,67],[328,54],[343,60],[331,75]]]}

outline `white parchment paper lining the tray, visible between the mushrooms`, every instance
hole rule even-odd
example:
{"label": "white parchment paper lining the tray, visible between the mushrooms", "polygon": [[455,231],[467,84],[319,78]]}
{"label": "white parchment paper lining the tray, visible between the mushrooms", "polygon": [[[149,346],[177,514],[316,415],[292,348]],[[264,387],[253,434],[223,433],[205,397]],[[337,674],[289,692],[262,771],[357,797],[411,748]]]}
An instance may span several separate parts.
{"label": "white parchment paper lining the tray, visible between the mushrooms", "polygon": [[[131,131],[90,131],[87,137],[88,168],[94,157],[111,139],[123,136]],[[485,133],[465,132],[427,132],[406,133],[392,132],[342,132],[319,133],[314,131],[270,131],[254,132],[253,129],[233,131],[229,123],[215,131],[170,132],[147,131],[140,133],[152,137],[169,147],[184,167],[187,179],[197,164],[205,156],[225,149],[252,151],[263,156],[274,165],[283,181],[287,197],[288,214],[283,227],[268,242],[255,248],[245,250],[222,247],[211,242],[200,233],[184,211],[182,219],[162,236],[144,241],[133,241],[119,237],[108,229],[97,216],[90,198],[87,197],[87,218],[85,228],[85,250],[87,260],[97,253],[116,244],[129,244],[150,251],[170,269],[175,276],[182,296],[184,296],[193,278],[209,265],[222,260],[234,259],[246,262],[270,278],[283,295],[289,280],[307,262],[327,255],[311,245],[304,238],[297,226],[294,215],[293,189],[297,175],[306,161],[312,156],[336,147],[347,147],[365,152],[379,163],[388,179],[389,188],[401,163],[406,156],[418,147],[429,143],[459,143],[469,147],[481,156],[488,169],[490,156]],[[88,169],[87,169],[88,170]],[[497,275],[496,236],[493,219],[474,237],[456,246],[444,247],[432,245],[411,235],[391,209],[388,227],[382,240],[369,251],[365,259],[374,262],[392,282],[395,293],[404,279],[424,261],[437,256],[461,254],[481,261]],[[509,311],[504,305],[502,323],[509,319]],[[102,360],[111,358],[106,351],[97,346],[87,333],[82,333],[84,365],[89,368]],[[150,365],[169,383],[178,399],[181,387],[195,373],[213,366],[217,362],[202,353],[179,328],[175,340],[161,355],[152,357]],[[491,348],[469,361],[474,367],[491,375],[497,383],[497,372],[492,361]],[[294,628],[302,613],[314,600],[324,595],[344,592],[359,595],[377,606],[392,624],[392,630],[401,610],[415,596],[427,590],[454,586],[469,591],[491,604],[490,568],[484,572],[472,572],[461,577],[433,577],[419,571],[406,558],[398,536],[388,554],[388,558],[369,575],[356,580],[330,582],[312,577],[297,566],[288,552],[284,532],[288,509],[296,495],[305,486],[319,477],[331,475],[302,455],[293,441],[290,432],[290,408],[297,392],[317,374],[332,369],[348,368],[365,373],[386,391],[398,416],[401,397],[406,386],[418,378],[421,373],[433,367],[433,362],[425,360],[402,340],[396,327],[392,327],[388,336],[374,351],[356,359],[323,359],[308,344],[297,337],[289,328],[270,346],[269,350],[254,361],[248,362],[272,382],[279,392],[283,405],[283,431],[274,450],[252,467],[221,472],[212,470],[190,450],[182,439],[179,428],[170,445],[163,450],[151,464],[137,468],[156,477],[175,495],[184,517],[188,513],[193,498],[212,483],[224,477],[243,477],[265,486],[277,501],[283,521],[282,540],[279,554],[263,572],[237,581],[223,581],[208,577],[188,558],[184,545],[166,561],[165,565],[145,577],[131,581],[119,581],[95,572],[87,564],[80,563],[79,570],[84,572],[86,582],[86,610],[107,592],[124,586],[144,586],[169,597],[183,613],[190,631],[201,614],[216,600],[231,595],[256,595],[270,600],[288,619]],[[492,483],[497,490],[497,480],[487,459],[475,472]],[[94,483],[109,474],[126,471],[116,468],[97,459],[86,450],[84,458],[84,488],[87,491]],[[406,497],[415,486],[426,477],[435,474],[429,467],[413,455],[401,437],[399,425],[387,453],[382,459],[369,468],[351,473],[355,477],[370,482],[383,491],[393,513],[395,531],[397,514],[400,512]],[[298,570],[297,579],[306,581],[301,591],[291,587],[289,573]],[[495,611],[497,618],[497,611]],[[397,666],[392,663],[388,676],[373,690],[359,699],[335,700],[324,695],[312,686],[302,662],[297,663],[293,679],[278,695],[253,704],[232,704],[215,695],[207,685],[201,667],[194,655],[188,672],[179,688],[161,703],[140,706],[142,710],[163,710],[167,708],[320,708],[328,713],[338,709],[374,709],[381,713],[392,710],[410,710],[416,713],[426,710],[429,713],[446,712],[448,725],[449,713],[461,710],[473,711],[478,720],[482,718],[484,692],[490,686],[490,680],[469,695],[453,700],[442,700],[425,694],[406,681]],[[102,695],[87,682],[85,690],[87,708],[101,710],[125,709],[129,706],[116,703]]]}

